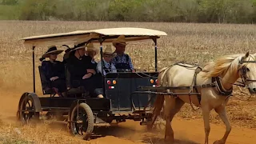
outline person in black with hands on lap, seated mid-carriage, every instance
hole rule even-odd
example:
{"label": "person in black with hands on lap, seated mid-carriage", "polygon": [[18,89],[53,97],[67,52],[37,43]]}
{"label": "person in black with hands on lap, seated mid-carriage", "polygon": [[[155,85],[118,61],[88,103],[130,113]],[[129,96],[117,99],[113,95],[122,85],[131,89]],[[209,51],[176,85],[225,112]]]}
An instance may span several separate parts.
{"label": "person in black with hands on lap, seated mid-carriage", "polygon": [[[94,90],[102,87],[102,81],[98,81],[98,77],[94,77],[96,71],[93,69],[91,58],[85,55],[85,47],[85,45],[78,45],[70,51],[67,68],[70,70],[71,85],[74,88],[84,86],[92,96],[95,96]],[[96,95],[102,98],[101,94]]]}

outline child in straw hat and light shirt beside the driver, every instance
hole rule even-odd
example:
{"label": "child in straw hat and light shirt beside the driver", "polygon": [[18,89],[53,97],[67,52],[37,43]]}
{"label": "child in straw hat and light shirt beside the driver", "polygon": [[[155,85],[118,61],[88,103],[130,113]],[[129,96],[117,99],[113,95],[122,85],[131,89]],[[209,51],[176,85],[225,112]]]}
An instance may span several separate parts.
{"label": "child in straw hat and light shirt beside the driver", "polygon": [[117,70],[113,63],[111,63],[111,59],[114,58],[116,54],[112,50],[112,47],[110,45],[106,46],[106,50],[103,52],[103,73],[102,73],[102,62],[98,62],[97,65],[97,71],[98,73],[101,73],[103,75],[106,75],[106,73],[116,73]]}

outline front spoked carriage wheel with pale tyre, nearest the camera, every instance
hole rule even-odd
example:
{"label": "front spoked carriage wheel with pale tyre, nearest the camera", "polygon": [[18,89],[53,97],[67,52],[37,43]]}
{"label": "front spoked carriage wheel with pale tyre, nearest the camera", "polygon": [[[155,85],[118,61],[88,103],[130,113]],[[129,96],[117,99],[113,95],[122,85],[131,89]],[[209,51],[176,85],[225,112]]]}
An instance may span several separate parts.
{"label": "front spoked carriage wheel with pale tyre, nearest the camera", "polygon": [[81,135],[89,140],[94,130],[94,114],[86,103],[80,103],[71,111],[69,130],[71,134]]}

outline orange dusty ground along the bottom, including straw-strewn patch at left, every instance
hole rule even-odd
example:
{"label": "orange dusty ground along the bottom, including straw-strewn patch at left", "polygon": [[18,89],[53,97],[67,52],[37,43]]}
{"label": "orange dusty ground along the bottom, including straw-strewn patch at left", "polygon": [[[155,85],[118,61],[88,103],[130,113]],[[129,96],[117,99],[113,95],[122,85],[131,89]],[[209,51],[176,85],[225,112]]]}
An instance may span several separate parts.
{"label": "orange dusty ground along the bottom, including straw-strewn patch at left", "polygon": [[[65,122],[56,121],[46,121],[41,122],[36,125],[20,126],[16,122],[16,110],[18,107],[18,100],[22,94],[14,93],[12,91],[1,91],[2,100],[0,101],[0,130],[1,136],[8,138],[13,138],[15,141],[19,142],[36,142],[36,143],[85,143],[82,138],[76,138],[71,136],[66,128]],[[254,124],[248,122],[251,121],[250,118],[233,118],[233,115],[241,113],[243,106],[248,106],[251,109],[255,107],[253,102],[240,102],[234,100],[230,102],[229,117],[233,129],[228,138],[228,143],[231,144],[249,144],[256,143],[254,139],[256,137],[256,129],[253,128]],[[238,110],[239,109],[239,110]],[[185,107],[183,110],[189,110],[189,107]],[[184,111],[181,112],[181,114]],[[190,114],[193,115],[190,118]],[[174,129],[174,137],[176,143],[185,144],[196,144],[204,142],[204,126],[200,114],[195,114],[191,112],[174,118],[172,126]],[[211,123],[210,131],[210,143],[214,142],[218,138],[222,138],[225,132],[225,126],[218,118],[212,116],[214,120]],[[238,121],[239,120],[239,121]],[[238,122],[237,122],[238,121]],[[244,125],[239,125],[239,123],[244,122]],[[251,121],[254,122],[254,121]],[[91,139],[87,143],[112,143],[112,144],[130,144],[130,143],[163,143],[164,130],[147,132],[145,126],[140,126],[139,122],[126,121],[119,123],[118,126],[103,126],[95,128],[95,133],[100,134],[98,138]],[[1,139],[0,136],[0,139]],[[17,139],[18,138],[18,139]],[[9,140],[10,140],[9,139]],[[1,141],[0,141],[1,142]],[[13,142],[13,141],[12,141]]]}

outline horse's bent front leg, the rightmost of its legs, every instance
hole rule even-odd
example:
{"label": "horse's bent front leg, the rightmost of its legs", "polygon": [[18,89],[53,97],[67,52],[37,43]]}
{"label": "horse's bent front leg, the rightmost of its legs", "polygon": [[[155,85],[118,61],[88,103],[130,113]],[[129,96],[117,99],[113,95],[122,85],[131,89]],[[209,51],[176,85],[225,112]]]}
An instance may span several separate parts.
{"label": "horse's bent front leg, the rightmost of its legs", "polygon": [[219,106],[218,108],[215,108],[214,110],[218,113],[219,117],[222,119],[222,122],[224,122],[226,125],[226,132],[223,138],[221,140],[215,141],[214,144],[225,144],[226,139],[229,136],[231,131],[230,122],[226,115],[226,108],[225,106],[222,105],[222,106]]}

